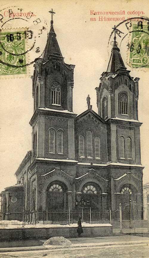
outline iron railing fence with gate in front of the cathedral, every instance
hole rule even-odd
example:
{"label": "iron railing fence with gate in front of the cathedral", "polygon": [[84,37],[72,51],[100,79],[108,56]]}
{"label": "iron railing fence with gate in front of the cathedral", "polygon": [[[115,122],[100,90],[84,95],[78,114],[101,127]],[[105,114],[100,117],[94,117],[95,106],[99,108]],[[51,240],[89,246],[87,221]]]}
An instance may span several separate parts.
{"label": "iron railing fence with gate in front of the cathedral", "polygon": [[0,227],[24,226],[26,224],[73,224],[77,223],[78,218],[82,222],[94,223],[111,223],[119,225],[122,230],[122,221],[141,221],[148,219],[147,209],[137,204],[128,204],[124,208],[119,204],[119,209],[95,210],[95,209],[78,209],[78,210],[37,210],[27,212],[0,212]]}

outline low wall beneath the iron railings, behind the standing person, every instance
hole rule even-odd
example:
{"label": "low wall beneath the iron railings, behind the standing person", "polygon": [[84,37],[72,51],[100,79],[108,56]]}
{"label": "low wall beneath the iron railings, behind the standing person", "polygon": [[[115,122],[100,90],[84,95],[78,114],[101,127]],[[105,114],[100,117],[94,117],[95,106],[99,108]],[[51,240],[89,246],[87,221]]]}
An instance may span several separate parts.
{"label": "low wall beneath the iron railings, behind the standing person", "polygon": [[[83,227],[82,237],[112,235],[112,226]],[[76,227],[50,227],[50,228],[18,228],[0,229],[0,240],[3,239],[49,239],[52,236],[77,237]]]}

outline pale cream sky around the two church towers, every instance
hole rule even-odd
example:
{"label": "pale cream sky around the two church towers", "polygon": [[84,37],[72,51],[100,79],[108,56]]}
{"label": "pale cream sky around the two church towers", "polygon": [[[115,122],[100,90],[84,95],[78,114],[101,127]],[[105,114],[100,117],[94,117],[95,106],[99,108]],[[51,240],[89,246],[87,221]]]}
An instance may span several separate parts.
{"label": "pale cream sky around the two church towers", "polygon": [[[50,29],[51,16],[49,10],[53,8],[54,30],[57,34],[58,44],[66,64],[75,64],[74,89],[73,89],[73,111],[80,114],[87,109],[86,97],[91,97],[91,105],[97,112],[95,87],[99,86],[100,75],[106,71],[110,58],[111,44],[108,40],[114,25],[117,21],[98,21],[99,15],[90,15],[90,11],[120,11],[125,13],[136,10],[144,11],[144,16],[149,16],[148,1],[13,1],[13,5],[23,8],[24,12],[31,10],[37,17],[45,20],[46,29]],[[108,4],[107,4],[108,3]],[[11,1],[1,1],[2,7],[11,6]],[[105,15],[100,15],[105,16]],[[107,17],[134,17],[136,15],[107,15]],[[90,18],[97,18],[90,21]],[[18,22],[18,21],[17,21]],[[5,28],[22,28],[25,25],[22,21],[17,24],[7,23]],[[14,27],[15,26],[15,27]],[[33,25],[30,25],[33,27]],[[118,39],[118,36],[117,36]],[[127,44],[129,36],[123,40],[120,53],[122,59],[131,70],[130,75],[139,77],[139,121],[142,122],[141,132],[141,157],[143,171],[143,183],[149,182],[148,168],[148,121],[149,121],[149,68],[132,69],[127,65],[129,51]],[[41,35],[39,40],[41,48],[46,44],[46,33]],[[119,46],[119,42],[118,42]],[[28,46],[27,46],[28,47]],[[35,58],[35,52],[29,54],[29,60]],[[26,77],[7,79],[0,76],[0,192],[9,185],[14,185],[14,176],[19,164],[28,150],[31,150],[31,126],[29,121],[33,114],[32,79],[34,67],[29,66]]]}

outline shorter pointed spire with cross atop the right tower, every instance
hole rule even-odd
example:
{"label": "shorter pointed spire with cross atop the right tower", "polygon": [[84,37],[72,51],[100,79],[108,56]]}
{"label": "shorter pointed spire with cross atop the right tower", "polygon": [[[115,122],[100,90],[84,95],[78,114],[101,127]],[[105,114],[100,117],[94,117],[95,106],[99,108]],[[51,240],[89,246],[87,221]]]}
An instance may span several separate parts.
{"label": "shorter pointed spire with cross atop the right tower", "polygon": [[115,73],[115,71],[120,68],[120,67],[125,67],[124,62],[122,61],[122,57],[120,55],[120,50],[117,46],[117,42],[116,42],[116,26],[114,25],[114,44],[113,44],[113,48],[111,50],[111,57],[110,57],[110,61],[108,63],[108,68],[107,68],[107,72],[108,73]]}

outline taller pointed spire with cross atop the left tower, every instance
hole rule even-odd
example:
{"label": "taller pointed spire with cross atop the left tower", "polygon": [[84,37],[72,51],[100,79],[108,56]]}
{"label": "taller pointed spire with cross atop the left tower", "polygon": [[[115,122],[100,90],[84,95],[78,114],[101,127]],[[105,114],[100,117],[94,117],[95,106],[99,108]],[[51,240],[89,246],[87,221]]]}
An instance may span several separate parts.
{"label": "taller pointed spire with cross atop the left tower", "polygon": [[53,57],[55,56],[56,58],[60,58],[60,59],[63,58],[61,51],[60,51],[60,47],[58,45],[58,41],[56,39],[55,31],[53,28],[53,15],[55,12],[53,12],[53,9],[52,9],[52,11],[49,11],[49,13],[52,14],[52,19],[51,19],[51,28],[50,28],[48,40],[46,42],[46,47],[45,47],[44,55],[43,55],[43,59],[46,61],[49,60],[50,55],[52,55]]}

